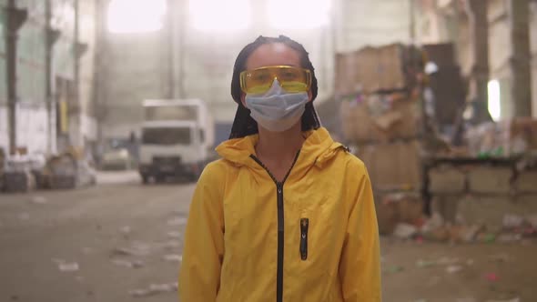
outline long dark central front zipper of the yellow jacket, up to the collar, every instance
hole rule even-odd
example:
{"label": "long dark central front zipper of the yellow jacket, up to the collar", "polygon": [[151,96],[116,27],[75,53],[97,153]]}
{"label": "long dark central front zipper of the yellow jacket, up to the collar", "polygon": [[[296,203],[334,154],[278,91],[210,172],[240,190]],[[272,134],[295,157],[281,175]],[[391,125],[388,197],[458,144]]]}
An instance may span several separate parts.
{"label": "long dark central front zipper of the yellow jacket, up to the collar", "polygon": [[284,221],[283,221],[283,185],[285,184],[285,181],[287,180],[287,177],[291,173],[291,170],[293,169],[293,166],[297,163],[297,160],[299,159],[299,152],[297,152],[297,155],[295,156],[295,159],[293,160],[293,163],[291,167],[289,168],[289,171],[287,172],[286,176],[283,177],[283,180],[279,182],[276,177],[272,175],[272,173],[269,171],[269,168],[265,166],[257,156],[254,156],[253,154],[250,155],[250,157],[258,163],[259,166],[262,166],[267,173],[269,173],[270,178],[272,178],[272,181],[276,184],[276,191],[278,193],[277,198],[277,206],[278,206],[278,266],[276,271],[276,302],[283,302],[283,231],[284,231]]}

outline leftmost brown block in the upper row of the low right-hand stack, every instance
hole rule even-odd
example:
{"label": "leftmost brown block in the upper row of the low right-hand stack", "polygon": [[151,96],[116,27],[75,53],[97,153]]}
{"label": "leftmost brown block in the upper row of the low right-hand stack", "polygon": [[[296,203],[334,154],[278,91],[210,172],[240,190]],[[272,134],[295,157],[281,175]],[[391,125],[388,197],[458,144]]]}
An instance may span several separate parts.
{"label": "leftmost brown block in the upper row of the low right-hand stack", "polygon": [[460,195],[466,190],[466,175],[453,166],[438,166],[429,171],[432,194]]}

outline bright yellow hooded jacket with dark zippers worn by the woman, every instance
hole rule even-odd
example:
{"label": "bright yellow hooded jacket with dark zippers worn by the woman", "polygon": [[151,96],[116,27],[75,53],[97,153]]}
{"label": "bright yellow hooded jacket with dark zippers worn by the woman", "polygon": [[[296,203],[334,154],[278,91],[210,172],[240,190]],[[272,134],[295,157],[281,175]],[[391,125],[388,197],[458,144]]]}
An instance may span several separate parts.
{"label": "bright yellow hooded jacket with dark zippers worn by the woman", "polygon": [[258,136],[218,146],[190,206],[181,302],[381,300],[366,168],[326,129],[307,136],[283,183],[255,157]]}

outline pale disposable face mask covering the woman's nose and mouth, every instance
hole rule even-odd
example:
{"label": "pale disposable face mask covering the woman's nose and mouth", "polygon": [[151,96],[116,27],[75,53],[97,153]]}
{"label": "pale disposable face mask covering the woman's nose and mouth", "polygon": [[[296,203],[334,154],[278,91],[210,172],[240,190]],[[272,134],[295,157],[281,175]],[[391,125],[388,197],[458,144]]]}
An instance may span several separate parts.
{"label": "pale disposable face mask covering the woman's nose and mouth", "polygon": [[246,95],[245,100],[250,116],[259,126],[272,132],[282,132],[299,122],[309,96],[307,92],[289,94],[279,86],[278,80],[274,80],[267,93]]}

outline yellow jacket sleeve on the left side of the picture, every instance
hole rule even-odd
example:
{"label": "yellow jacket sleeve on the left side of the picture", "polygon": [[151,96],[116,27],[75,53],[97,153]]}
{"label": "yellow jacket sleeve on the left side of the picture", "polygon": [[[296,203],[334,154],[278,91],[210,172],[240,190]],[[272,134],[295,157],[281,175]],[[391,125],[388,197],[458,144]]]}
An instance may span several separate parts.
{"label": "yellow jacket sleeve on the left side of the picture", "polygon": [[215,302],[224,257],[222,208],[225,175],[209,164],[198,180],[187,220],[179,272],[181,302]]}

